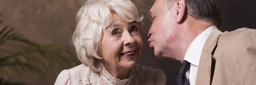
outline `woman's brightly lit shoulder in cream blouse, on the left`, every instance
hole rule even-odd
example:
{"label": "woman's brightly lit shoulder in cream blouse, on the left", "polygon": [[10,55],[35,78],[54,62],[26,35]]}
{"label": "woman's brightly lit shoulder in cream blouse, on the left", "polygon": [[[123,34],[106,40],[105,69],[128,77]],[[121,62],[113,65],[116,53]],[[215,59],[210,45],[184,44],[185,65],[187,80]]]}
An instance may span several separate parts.
{"label": "woman's brightly lit shoulder in cream blouse, on the left", "polygon": [[81,64],[61,71],[54,85],[73,85],[76,82],[83,83],[83,85],[90,84],[90,79],[88,78],[91,75],[95,76],[93,72],[90,71],[89,67]]}

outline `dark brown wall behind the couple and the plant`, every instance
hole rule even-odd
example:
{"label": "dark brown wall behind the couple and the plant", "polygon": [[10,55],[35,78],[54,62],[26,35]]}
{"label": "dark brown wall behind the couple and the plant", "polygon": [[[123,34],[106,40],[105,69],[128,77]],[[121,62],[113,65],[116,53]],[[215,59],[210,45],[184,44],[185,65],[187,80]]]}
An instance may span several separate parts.
{"label": "dark brown wall behind the couple and the plant", "polygon": [[[145,34],[150,26],[147,13],[154,0],[132,0],[145,15]],[[0,12],[4,24],[16,27],[25,37],[41,44],[58,44],[73,48],[70,37],[76,26],[75,16],[84,0],[0,0]],[[221,31],[232,31],[241,27],[256,28],[256,0],[218,0],[222,24]],[[1,27],[1,26],[0,26]],[[149,49],[144,34],[144,49],[139,64],[159,68],[166,73],[166,85],[175,85],[180,62],[157,59]],[[78,62],[76,55],[72,58]],[[71,68],[71,67],[66,67]],[[12,81],[32,85],[53,85],[60,71],[55,69],[45,76],[35,74],[13,77]]]}

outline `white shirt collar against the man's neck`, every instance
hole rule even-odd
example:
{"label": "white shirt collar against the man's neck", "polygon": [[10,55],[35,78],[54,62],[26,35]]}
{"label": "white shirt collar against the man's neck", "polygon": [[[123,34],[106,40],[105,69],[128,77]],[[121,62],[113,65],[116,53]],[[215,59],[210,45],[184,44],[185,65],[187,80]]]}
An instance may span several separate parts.
{"label": "white shirt collar against the man's neck", "polygon": [[213,29],[217,28],[216,26],[211,26],[203,31],[198,37],[193,40],[188,50],[186,51],[184,60],[190,62],[193,65],[198,66],[201,53],[204,47],[204,43],[207,40],[209,34]]}

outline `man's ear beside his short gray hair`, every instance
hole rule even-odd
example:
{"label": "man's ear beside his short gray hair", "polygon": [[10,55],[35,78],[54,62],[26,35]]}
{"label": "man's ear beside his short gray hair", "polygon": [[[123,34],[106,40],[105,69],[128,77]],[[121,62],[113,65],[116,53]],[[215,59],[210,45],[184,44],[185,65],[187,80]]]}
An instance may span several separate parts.
{"label": "man's ear beside his short gray hair", "polygon": [[174,6],[175,6],[175,21],[176,23],[180,23],[186,11],[186,2],[185,0],[177,0]]}

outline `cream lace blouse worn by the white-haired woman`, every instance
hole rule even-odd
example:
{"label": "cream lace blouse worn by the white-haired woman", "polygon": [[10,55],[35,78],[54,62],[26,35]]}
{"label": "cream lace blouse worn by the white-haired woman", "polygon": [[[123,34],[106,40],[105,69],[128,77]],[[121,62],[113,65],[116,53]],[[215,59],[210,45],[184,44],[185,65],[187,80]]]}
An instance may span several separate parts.
{"label": "cream lace blouse worn by the white-haired woman", "polygon": [[100,66],[102,71],[99,73],[90,71],[90,68],[83,64],[63,70],[54,85],[111,85],[110,81],[113,82],[112,85],[165,85],[166,83],[166,75],[159,69],[136,65],[130,70],[128,79],[120,80],[112,77],[103,64]]}

